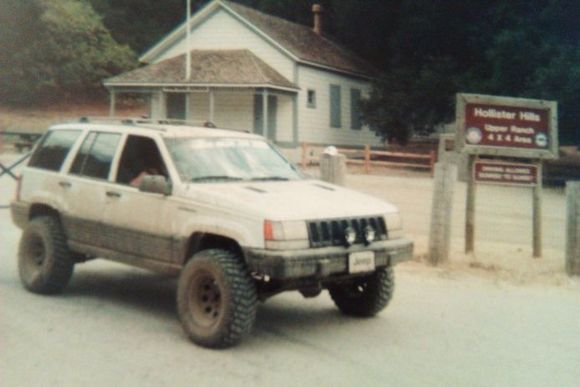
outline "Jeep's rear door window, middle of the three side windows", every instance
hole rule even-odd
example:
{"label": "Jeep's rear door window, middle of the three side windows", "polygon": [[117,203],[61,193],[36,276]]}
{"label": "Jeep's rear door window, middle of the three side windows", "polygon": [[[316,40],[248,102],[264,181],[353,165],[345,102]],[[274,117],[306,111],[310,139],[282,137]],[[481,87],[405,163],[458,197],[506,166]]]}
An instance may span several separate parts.
{"label": "Jeep's rear door window, middle of the three side windows", "polygon": [[121,135],[115,133],[89,133],[73,161],[70,173],[107,179],[120,139]]}

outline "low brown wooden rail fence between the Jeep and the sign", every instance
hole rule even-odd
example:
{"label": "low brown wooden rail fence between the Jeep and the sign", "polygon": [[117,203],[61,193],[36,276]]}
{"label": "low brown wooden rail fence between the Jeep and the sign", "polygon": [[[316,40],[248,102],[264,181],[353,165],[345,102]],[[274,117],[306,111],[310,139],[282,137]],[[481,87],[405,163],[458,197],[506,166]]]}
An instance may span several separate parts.
{"label": "low brown wooden rail fence between the Jeep and the sign", "polygon": [[[302,167],[317,164],[318,156],[324,147],[302,144],[302,157],[300,164]],[[316,155],[313,156],[313,150]],[[427,169],[433,175],[437,153],[408,153],[392,152],[383,150],[371,150],[369,145],[364,149],[337,148],[338,153],[346,156],[346,163],[352,165],[361,165],[365,173],[369,173],[372,167],[394,167],[394,168],[418,168]]]}

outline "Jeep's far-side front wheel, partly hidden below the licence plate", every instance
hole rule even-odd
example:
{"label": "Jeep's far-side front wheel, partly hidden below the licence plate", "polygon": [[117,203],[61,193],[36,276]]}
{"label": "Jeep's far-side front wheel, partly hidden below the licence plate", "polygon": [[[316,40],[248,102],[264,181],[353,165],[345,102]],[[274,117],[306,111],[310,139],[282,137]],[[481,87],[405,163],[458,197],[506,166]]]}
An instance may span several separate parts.
{"label": "Jeep's far-side front wheel, partly hidden below the licence plate", "polygon": [[344,314],[371,317],[383,310],[393,297],[395,276],[391,267],[329,287],[330,297]]}

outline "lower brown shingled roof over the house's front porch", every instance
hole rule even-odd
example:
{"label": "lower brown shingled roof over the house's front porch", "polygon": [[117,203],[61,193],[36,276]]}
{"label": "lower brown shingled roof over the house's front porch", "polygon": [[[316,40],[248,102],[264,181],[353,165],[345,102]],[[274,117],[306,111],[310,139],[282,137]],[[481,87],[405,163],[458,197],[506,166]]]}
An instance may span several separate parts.
{"label": "lower brown shingled roof over the house's front porch", "polygon": [[185,54],[105,80],[105,86],[227,85],[298,89],[249,50],[193,50],[191,78],[185,79]]}

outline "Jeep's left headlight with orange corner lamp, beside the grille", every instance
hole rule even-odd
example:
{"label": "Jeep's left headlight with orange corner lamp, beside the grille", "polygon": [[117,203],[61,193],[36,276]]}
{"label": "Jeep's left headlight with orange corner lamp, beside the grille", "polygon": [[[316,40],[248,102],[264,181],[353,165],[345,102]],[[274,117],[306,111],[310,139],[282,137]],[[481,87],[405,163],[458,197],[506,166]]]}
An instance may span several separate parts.
{"label": "Jeep's left headlight with orange corner lamp, beside the grille", "polygon": [[264,221],[264,240],[269,249],[298,249],[308,248],[308,229],[306,222],[287,221],[274,222]]}

